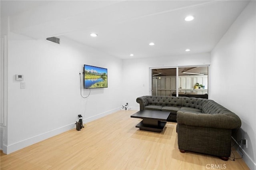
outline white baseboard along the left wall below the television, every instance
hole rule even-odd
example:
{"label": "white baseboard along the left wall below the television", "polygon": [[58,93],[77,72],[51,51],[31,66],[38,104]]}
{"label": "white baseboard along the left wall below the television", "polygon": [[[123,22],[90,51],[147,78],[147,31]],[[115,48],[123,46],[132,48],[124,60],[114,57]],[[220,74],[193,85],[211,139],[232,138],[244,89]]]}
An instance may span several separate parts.
{"label": "white baseboard along the left wall below the television", "polygon": [[[95,116],[92,116],[92,117],[89,117],[89,118],[86,118],[84,119],[84,122],[85,123],[88,123],[90,121],[94,121],[96,119],[99,119],[101,117],[104,117],[106,115],[109,115],[111,113],[114,113],[116,111],[120,111],[121,107],[118,107],[116,109],[112,109],[110,111],[106,111],[106,112],[103,112],[103,113],[100,113],[98,115],[95,115]],[[19,142],[16,142],[14,144],[10,144],[8,146],[6,146],[5,144],[3,144],[3,152],[5,154],[10,154],[12,152],[15,152],[17,150],[20,150],[22,148],[25,148],[27,146],[30,146],[32,144],[35,144],[37,142],[40,142],[42,140],[45,140],[47,138],[50,138],[52,136],[56,136],[57,134],[60,134],[60,133],[63,133],[63,132],[66,132],[68,130],[71,130],[75,128],[75,124],[72,123],[72,124],[69,124],[69,125],[66,125],[66,126],[63,126],[63,127],[59,127],[59,128],[56,128],[54,130],[51,130],[51,131],[48,131],[48,132],[45,132],[45,133],[42,133],[42,134],[38,134],[36,136],[33,136],[31,138],[27,138],[25,140],[22,140],[22,141],[19,141]]]}

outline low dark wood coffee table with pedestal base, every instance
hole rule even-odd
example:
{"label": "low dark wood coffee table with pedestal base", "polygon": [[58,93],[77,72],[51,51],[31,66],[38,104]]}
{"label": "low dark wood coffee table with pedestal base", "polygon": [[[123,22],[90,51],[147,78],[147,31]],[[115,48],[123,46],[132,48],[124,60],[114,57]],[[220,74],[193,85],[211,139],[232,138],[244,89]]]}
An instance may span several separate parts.
{"label": "low dark wood coffee table with pedestal base", "polygon": [[142,121],[135,127],[140,130],[162,132],[170,112],[142,110],[131,115],[133,118],[140,118]]}

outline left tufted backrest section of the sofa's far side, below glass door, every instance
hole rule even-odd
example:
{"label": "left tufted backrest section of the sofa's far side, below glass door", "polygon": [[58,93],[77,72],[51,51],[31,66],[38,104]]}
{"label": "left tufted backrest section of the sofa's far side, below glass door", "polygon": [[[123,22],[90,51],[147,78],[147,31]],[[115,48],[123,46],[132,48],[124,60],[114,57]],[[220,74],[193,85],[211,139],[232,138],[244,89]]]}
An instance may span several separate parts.
{"label": "left tufted backrest section of the sofa's far side, below glass door", "polygon": [[148,96],[148,105],[181,107],[181,98],[172,96]]}

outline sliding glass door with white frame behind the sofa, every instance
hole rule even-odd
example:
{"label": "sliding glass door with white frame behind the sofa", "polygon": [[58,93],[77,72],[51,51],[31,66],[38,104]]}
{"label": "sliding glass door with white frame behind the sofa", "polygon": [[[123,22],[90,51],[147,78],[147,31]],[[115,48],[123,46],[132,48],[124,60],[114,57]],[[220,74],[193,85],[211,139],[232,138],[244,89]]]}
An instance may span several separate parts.
{"label": "sliding glass door with white frame behind the sofa", "polygon": [[208,66],[151,69],[152,95],[208,94]]}

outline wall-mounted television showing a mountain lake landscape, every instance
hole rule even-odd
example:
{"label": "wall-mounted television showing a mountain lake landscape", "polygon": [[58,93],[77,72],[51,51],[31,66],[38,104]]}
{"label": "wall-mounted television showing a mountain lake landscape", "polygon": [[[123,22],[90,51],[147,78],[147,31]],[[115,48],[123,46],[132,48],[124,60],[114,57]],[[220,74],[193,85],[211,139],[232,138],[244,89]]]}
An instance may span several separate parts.
{"label": "wall-mounted television showing a mountain lake landscape", "polygon": [[84,89],[108,87],[108,69],[84,65]]}

